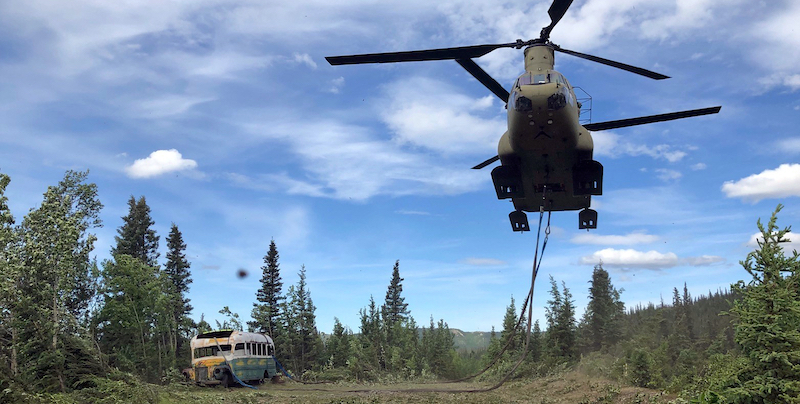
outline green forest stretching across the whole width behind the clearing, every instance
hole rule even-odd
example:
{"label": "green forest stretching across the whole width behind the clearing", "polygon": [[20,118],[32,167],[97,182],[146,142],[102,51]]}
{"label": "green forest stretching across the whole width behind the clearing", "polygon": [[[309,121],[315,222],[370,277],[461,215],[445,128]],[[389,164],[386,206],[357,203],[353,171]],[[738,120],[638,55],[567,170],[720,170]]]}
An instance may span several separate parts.
{"label": "green forest stretching across the whole width behind the clearing", "polygon": [[[741,261],[747,278],[730,288],[691,296],[676,285],[672,301],[625,307],[624,290],[598,264],[580,318],[573,291],[551,276],[548,295],[536,297],[547,299],[545,324],[527,324],[525,303],[518,310],[511,298],[487,347],[457,349],[444,319],[418,324],[410,315],[399,261],[387,268],[383,299],[371,297],[359,311],[357,329],[335,319],[330,332],[318,330],[306,270],[284,288],[275,240],[252,320],[225,306],[222,323],[194,321],[183,235],[173,223],[161,259],[144,196],[131,196],[115,244],[96,246],[103,205],[88,172],[68,171],[21,219],[8,207],[10,181],[0,173],[0,402],[159,402],[155,387],[200,389],[181,375],[189,340],[232,328],[271,335],[276,359],[305,381],[480,373],[476,380],[491,385],[515,368],[515,381],[577,371],[667,392],[675,402],[800,403],[800,256],[781,245],[791,229],[777,224],[780,205],[757,223],[762,239]],[[113,258],[98,263],[95,248],[110,248]]]}

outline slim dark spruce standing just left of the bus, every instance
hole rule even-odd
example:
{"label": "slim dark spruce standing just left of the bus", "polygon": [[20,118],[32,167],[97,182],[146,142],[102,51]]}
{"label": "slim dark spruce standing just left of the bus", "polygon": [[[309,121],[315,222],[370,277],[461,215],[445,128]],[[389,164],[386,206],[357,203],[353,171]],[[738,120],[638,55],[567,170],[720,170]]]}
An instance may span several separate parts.
{"label": "slim dark spruce standing just left of the bus", "polygon": [[169,306],[170,327],[170,346],[174,350],[175,360],[189,357],[188,340],[192,327],[192,319],[189,313],[192,305],[189,304],[189,284],[192,283],[191,273],[189,272],[189,261],[186,260],[186,244],[183,242],[183,235],[175,223],[167,238],[167,263],[164,266],[163,275],[166,277],[167,284],[167,305]]}

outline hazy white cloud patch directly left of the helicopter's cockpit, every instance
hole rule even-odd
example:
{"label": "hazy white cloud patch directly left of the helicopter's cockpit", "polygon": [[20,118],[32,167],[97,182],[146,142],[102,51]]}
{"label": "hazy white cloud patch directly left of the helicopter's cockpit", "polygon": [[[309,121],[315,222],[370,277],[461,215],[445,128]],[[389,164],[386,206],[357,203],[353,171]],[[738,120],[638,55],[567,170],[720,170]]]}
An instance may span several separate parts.
{"label": "hazy white cloud patch directly left of the helicopter's cockpit", "polygon": [[399,144],[453,153],[494,153],[506,118],[492,108],[495,96],[471,98],[439,81],[415,77],[388,85],[382,119]]}

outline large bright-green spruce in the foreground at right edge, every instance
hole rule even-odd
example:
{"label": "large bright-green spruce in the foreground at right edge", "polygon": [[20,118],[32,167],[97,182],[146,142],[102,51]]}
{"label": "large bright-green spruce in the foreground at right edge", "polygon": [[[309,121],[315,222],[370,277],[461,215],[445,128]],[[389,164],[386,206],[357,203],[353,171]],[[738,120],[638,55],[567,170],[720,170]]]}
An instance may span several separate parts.
{"label": "large bright-green spruce in the foreground at right edge", "polygon": [[787,257],[780,243],[790,227],[779,230],[775,209],[767,226],[758,221],[762,240],[741,262],[752,280],[732,286],[736,342],[746,357],[724,392],[735,403],[800,403],[800,254]]}

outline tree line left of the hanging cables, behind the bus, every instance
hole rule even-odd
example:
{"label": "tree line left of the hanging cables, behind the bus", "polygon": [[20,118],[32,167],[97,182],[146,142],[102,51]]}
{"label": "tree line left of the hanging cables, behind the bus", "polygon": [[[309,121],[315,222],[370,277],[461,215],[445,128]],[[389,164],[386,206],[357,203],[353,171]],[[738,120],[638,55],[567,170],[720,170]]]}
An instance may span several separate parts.
{"label": "tree line left of the hanging cables, behind the bus", "polygon": [[[97,385],[96,376],[123,372],[150,383],[180,377],[190,365],[190,339],[212,327],[190,317],[192,283],[186,243],[176,224],[160,260],[160,237],[145,197],[131,196],[111,246],[111,258],[91,256],[103,205],[88,172],[68,171],[43,201],[17,223],[7,204],[10,178],[0,173],[0,391],[69,392]],[[305,267],[283,293],[279,254],[272,240],[249,331],[265,332],[276,359],[302,375],[341,370],[353,377],[403,369],[440,369],[454,355],[452,335],[440,321],[421,335],[402,296],[399,262],[383,305],[361,310],[361,332],[339,323],[323,340]],[[216,328],[244,329],[228,306]],[[443,357],[444,359],[440,358]],[[446,357],[446,358],[445,358]],[[436,372],[440,372],[436,370]],[[349,376],[348,376],[349,377]]]}

